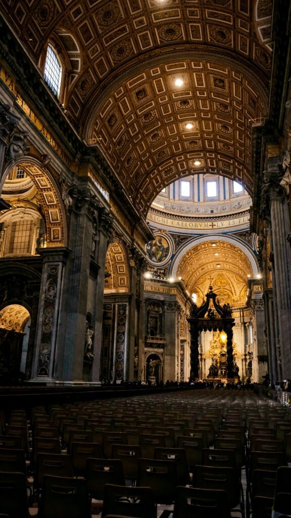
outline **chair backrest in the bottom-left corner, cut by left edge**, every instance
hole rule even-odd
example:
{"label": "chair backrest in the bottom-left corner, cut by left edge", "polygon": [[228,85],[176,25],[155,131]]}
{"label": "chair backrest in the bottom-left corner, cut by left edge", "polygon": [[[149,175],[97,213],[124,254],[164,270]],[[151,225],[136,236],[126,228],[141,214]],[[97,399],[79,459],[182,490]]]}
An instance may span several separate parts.
{"label": "chair backrest in the bottom-left corner, cut by left edge", "polygon": [[24,473],[0,472],[0,509],[9,518],[28,518]]}

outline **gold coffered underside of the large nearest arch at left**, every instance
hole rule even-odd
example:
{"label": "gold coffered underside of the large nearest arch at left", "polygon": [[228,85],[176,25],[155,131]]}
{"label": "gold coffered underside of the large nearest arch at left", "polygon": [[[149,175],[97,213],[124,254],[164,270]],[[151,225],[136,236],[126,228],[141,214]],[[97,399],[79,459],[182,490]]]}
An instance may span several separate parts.
{"label": "gold coffered underside of the large nearest arch at left", "polygon": [[50,171],[44,169],[39,160],[32,156],[7,164],[0,182],[0,192],[4,199],[10,199],[11,194],[3,194],[5,182],[14,168],[22,168],[34,184],[33,202],[21,200],[24,207],[34,208],[45,220],[47,247],[60,247],[67,244],[67,221],[65,207],[59,189]]}

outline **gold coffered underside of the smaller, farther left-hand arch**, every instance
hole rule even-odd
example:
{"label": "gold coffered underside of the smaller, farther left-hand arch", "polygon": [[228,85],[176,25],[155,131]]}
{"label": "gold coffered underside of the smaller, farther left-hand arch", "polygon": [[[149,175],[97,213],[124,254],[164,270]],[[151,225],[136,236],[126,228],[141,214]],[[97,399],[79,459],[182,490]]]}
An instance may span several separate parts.
{"label": "gold coffered underside of the smaller, farther left-hand arch", "polygon": [[114,241],[108,247],[105,271],[105,293],[129,291],[128,260],[124,246],[119,241]]}

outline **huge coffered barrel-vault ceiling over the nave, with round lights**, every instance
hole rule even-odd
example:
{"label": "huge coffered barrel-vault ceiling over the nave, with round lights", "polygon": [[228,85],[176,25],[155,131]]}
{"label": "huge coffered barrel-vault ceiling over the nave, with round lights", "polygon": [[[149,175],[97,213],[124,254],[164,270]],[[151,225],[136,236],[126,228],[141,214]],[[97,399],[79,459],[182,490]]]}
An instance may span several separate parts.
{"label": "huge coffered barrel-vault ceiling over the nave, with round lights", "polygon": [[193,171],[220,172],[252,194],[252,126],[268,108],[271,0],[2,4],[36,63],[52,35],[59,41],[70,67],[69,117],[144,214],[163,186]]}

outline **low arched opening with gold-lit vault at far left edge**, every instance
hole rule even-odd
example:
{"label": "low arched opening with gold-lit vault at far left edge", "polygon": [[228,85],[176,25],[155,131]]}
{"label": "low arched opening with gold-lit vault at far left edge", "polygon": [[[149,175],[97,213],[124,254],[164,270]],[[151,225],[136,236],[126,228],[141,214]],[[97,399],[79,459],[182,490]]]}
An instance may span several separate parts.
{"label": "low arched opening with gold-lit vault at far left edge", "polygon": [[24,379],[31,315],[20,304],[0,311],[0,383],[18,384]]}

